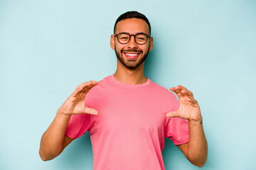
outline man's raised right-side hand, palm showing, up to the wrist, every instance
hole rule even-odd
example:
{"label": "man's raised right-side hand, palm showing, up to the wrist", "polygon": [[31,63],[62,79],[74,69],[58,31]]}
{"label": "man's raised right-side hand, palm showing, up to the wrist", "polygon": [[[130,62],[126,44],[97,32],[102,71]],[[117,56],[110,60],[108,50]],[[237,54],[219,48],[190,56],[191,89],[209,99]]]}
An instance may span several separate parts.
{"label": "man's raised right-side hand, palm showing, up to the wrist", "polygon": [[166,113],[166,117],[178,117],[193,121],[202,121],[202,115],[198,102],[193,98],[191,91],[187,90],[186,87],[176,86],[170,88],[171,91],[178,96],[180,106],[177,111],[171,111]]}

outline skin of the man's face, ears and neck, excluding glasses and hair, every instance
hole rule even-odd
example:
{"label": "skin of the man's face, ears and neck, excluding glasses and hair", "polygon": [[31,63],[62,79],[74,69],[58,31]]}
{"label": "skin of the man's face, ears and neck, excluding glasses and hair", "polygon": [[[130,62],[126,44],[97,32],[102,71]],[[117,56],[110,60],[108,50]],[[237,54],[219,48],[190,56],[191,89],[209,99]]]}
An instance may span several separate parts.
{"label": "skin of the man's face, ears and neck, excluding glasses and hair", "polygon": [[[129,18],[119,21],[115,30],[115,34],[118,33],[129,33],[130,35],[146,33],[150,35],[147,23],[138,18]],[[150,37],[144,45],[138,45],[134,40],[134,36],[132,36],[127,44],[122,45],[114,35],[111,35],[110,46],[127,65],[139,64],[136,68],[129,69],[122,64],[120,60],[117,60],[117,71],[114,73],[114,78],[124,84],[144,84],[146,77],[144,76],[144,62],[141,63],[141,61],[146,57],[147,53],[153,49],[153,38]],[[131,60],[125,56],[125,52],[137,53],[132,51],[139,51],[139,57]]]}

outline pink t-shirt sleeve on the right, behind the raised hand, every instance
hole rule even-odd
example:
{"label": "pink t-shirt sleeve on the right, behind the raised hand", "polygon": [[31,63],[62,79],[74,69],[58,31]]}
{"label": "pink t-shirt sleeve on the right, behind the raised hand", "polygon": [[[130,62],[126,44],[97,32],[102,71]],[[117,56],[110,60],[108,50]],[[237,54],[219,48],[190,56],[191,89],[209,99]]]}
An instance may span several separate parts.
{"label": "pink t-shirt sleeve on the right, behind the raised hand", "polygon": [[[179,101],[176,97],[173,99],[173,107],[171,110],[176,111],[179,108]],[[188,142],[188,120],[183,118],[167,118],[166,121],[165,137],[169,137],[169,139],[174,142],[174,145],[181,145]]]}

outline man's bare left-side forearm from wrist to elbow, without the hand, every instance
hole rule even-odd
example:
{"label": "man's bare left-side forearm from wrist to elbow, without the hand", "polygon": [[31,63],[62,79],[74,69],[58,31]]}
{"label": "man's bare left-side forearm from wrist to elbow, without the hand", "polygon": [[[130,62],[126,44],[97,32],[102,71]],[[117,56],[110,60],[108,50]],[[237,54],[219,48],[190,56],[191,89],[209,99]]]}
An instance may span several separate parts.
{"label": "man's bare left-side forearm from wrist to elbow, without the hand", "polygon": [[65,130],[68,126],[70,115],[57,112],[53,123],[41,138],[39,154],[44,161],[53,159],[63,150]]}

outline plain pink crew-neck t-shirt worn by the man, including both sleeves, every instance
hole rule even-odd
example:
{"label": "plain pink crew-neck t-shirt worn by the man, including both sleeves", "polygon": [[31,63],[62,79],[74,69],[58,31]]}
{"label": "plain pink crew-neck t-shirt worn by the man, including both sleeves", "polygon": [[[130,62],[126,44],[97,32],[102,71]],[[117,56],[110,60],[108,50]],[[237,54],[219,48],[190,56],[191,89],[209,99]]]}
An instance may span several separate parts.
{"label": "plain pink crew-neck t-shirt worn by the man, including both sleeves", "polygon": [[99,114],[72,115],[65,135],[90,132],[95,170],[164,169],[164,138],[188,142],[188,120],[166,118],[178,109],[178,99],[150,79],[131,85],[111,75],[89,91],[85,105]]}

